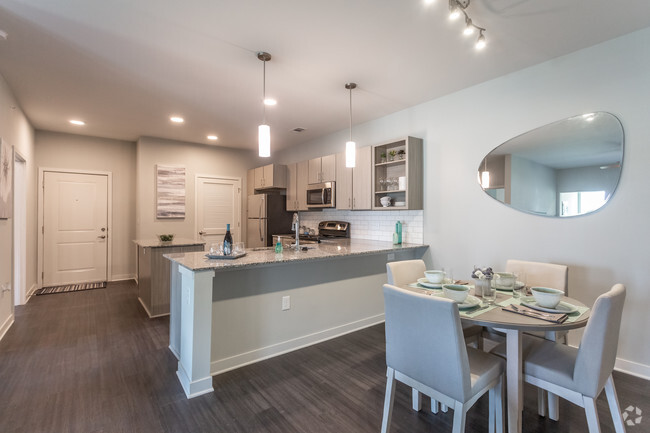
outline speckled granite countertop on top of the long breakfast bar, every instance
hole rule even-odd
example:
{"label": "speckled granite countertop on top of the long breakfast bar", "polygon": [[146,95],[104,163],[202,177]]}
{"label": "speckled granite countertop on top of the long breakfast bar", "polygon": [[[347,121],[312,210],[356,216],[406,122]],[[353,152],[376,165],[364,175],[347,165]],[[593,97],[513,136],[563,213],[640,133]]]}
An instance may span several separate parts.
{"label": "speckled granite countertop on top of the long breakfast bar", "polygon": [[234,270],[247,267],[267,266],[281,263],[293,263],[307,260],[327,260],[345,256],[390,253],[406,249],[428,248],[422,244],[393,245],[392,242],[371,241],[365,239],[347,239],[337,242],[308,244],[307,251],[295,251],[285,248],[276,254],[273,247],[246,249],[246,255],[238,259],[208,259],[205,252],[172,253],[163,257],[178,263],[192,271]]}

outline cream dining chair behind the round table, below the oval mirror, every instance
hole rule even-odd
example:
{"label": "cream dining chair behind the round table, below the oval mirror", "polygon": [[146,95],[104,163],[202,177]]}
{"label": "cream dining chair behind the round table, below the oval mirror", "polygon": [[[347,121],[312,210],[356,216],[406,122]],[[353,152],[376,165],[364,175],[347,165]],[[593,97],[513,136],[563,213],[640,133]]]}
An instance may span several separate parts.
{"label": "cream dining chair behind the round table, below the oval mirror", "polygon": [[[568,278],[569,278],[569,267],[566,265],[559,265],[555,263],[544,263],[544,262],[530,262],[525,260],[513,260],[509,259],[506,262],[506,272],[510,272],[516,275],[521,275],[524,273],[526,275],[526,285],[531,287],[552,287],[558,290],[564,291],[565,295],[568,295]],[[567,332],[549,332],[545,334],[543,332],[528,332],[528,334],[535,335],[540,338],[547,338],[552,341],[561,340],[564,344],[567,344]],[[493,330],[488,329],[487,338],[495,337]],[[534,340],[533,340],[534,341]],[[527,345],[531,341],[523,341],[523,350],[527,350]],[[491,350],[491,353],[501,356],[505,359],[506,350],[505,346],[497,346]],[[547,406],[548,402],[548,406]],[[538,389],[537,391],[537,412],[540,416],[546,416],[548,411],[549,418],[557,421],[559,419],[558,410],[560,407],[560,402],[553,393],[546,393],[544,389]]]}

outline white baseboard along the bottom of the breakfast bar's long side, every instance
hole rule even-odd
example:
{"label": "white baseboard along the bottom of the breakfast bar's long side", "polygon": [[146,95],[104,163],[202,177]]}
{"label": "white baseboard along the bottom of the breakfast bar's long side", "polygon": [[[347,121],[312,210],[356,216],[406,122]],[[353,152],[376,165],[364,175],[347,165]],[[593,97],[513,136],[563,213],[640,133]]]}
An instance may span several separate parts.
{"label": "white baseboard along the bottom of the breakfast bar's long side", "polygon": [[357,320],[352,323],[346,323],[345,325],[326,329],[324,331],[283,341],[272,346],[262,347],[250,352],[231,356],[229,358],[218,359],[210,363],[210,374],[212,376],[216,376],[217,374],[225,373],[226,371],[234,370],[248,364],[253,364],[264,359],[273,358],[275,356],[288,352],[293,352],[294,350],[302,349],[303,347],[331,340],[332,338],[340,337],[342,335],[349,334],[350,332],[359,331],[363,328],[382,323],[384,320],[384,314],[379,314],[376,316]]}

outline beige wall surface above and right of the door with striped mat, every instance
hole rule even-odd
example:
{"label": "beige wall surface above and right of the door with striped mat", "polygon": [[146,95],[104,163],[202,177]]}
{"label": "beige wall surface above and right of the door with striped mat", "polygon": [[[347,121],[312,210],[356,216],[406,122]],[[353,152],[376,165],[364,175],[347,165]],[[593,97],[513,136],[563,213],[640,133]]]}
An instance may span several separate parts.
{"label": "beige wall surface above and right of the door with striped mat", "polygon": [[36,131],[39,168],[104,171],[113,174],[111,278],[135,276],[135,143],[84,135]]}

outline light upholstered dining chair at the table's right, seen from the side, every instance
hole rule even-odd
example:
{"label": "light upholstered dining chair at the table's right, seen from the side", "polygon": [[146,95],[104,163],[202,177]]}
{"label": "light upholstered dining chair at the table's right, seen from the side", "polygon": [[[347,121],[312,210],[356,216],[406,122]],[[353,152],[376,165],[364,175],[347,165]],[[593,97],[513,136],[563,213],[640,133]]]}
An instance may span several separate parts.
{"label": "light upholstered dining chair at the table's right, seen from the side", "polygon": [[625,432],[612,378],[624,302],[622,284],[598,297],[578,349],[534,337],[527,339],[524,380],[584,407],[590,433],[600,432],[596,398],[603,388],[615,430]]}

